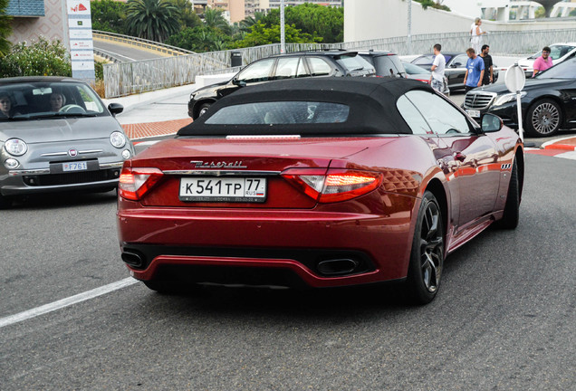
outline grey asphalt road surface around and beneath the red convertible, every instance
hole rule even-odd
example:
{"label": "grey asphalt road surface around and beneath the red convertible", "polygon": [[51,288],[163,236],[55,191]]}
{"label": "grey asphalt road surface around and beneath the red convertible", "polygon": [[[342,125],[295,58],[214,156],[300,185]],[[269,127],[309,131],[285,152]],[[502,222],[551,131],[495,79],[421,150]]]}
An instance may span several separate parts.
{"label": "grey asphalt road surface around and beneath the red convertible", "polygon": [[[426,307],[381,287],[170,297],[135,283],[0,326],[0,389],[575,389],[576,162],[526,162],[520,226],[450,255]],[[0,325],[128,277],[115,208],[110,192],[2,211]]]}

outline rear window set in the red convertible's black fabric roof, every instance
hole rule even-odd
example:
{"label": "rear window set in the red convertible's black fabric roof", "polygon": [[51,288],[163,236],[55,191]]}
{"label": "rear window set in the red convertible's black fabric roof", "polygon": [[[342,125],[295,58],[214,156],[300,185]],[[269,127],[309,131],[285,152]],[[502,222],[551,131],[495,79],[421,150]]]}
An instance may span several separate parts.
{"label": "rear window set in the red convertible's black fabric roof", "polygon": [[227,106],[206,119],[206,125],[287,125],[345,122],[350,107],[318,101],[272,101]]}

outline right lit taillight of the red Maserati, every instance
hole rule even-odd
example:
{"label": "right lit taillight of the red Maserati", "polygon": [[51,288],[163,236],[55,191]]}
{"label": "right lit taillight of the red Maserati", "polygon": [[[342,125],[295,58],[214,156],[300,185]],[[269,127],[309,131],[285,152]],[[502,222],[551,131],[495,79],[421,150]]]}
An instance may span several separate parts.
{"label": "right lit taillight of the red Maserati", "polygon": [[382,183],[382,175],[372,171],[348,169],[290,169],[283,177],[307,196],[320,203],[333,203],[362,196]]}

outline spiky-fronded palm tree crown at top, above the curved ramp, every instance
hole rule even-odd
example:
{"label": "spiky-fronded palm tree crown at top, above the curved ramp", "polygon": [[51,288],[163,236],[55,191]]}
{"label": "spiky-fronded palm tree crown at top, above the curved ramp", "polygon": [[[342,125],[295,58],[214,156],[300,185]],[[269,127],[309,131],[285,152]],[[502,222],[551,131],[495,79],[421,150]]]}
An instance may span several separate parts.
{"label": "spiky-fronded palm tree crown at top, above the curved ramp", "polygon": [[164,42],[179,30],[179,10],[168,0],[129,0],[128,32],[150,41]]}

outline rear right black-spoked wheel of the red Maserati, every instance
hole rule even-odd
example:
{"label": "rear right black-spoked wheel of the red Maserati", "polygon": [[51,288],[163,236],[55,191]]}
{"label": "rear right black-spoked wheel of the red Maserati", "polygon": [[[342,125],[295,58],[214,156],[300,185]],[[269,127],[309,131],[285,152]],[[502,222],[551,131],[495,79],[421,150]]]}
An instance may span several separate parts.
{"label": "rear right black-spoked wheel of the red Maserati", "polygon": [[434,300],[444,266],[444,231],[440,206],[429,191],[418,208],[414,239],[408,264],[406,290],[415,304]]}

